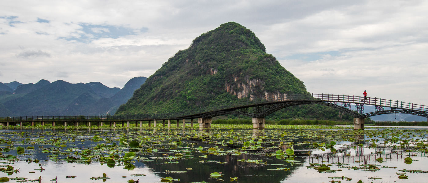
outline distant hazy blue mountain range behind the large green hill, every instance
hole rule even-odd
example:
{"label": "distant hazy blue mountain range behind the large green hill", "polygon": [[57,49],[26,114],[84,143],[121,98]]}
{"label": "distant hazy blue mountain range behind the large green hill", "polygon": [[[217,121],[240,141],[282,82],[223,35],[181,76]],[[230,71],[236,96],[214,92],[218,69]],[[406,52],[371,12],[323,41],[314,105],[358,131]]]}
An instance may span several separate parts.
{"label": "distant hazy blue mountain range behind the large green hill", "polygon": [[0,82],[0,117],[113,115],[146,79],[132,78],[122,89],[100,82],[71,84],[58,80],[51,83],[44,79],[36,84]]}

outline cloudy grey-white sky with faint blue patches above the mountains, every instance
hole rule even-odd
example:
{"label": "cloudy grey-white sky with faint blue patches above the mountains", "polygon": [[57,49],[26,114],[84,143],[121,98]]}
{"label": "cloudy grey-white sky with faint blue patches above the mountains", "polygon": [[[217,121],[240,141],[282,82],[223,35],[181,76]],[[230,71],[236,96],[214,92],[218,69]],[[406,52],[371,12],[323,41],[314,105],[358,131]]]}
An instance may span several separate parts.
{"label": "cloudy grey-white sky with faint blue patches above the mountains", "polygon": [[122,88],[234,21],[311,93],[428,105],[427,12],[426,0],[2,0],[0,82]]}

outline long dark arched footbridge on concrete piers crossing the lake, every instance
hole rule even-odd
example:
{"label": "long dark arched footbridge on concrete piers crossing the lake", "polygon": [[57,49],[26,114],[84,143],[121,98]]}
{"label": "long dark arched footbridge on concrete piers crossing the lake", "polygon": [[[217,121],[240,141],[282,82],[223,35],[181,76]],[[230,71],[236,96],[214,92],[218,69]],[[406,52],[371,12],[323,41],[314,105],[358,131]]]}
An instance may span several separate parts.
{"label": "long dark arched footbridge on concrete piers crossing the lake", "polygon": [[[129,127],[129,122],[140,123],[142,126],[143,121],[153,122],[156,127],[158,121],[162,121],[165,126],[168,121],[168,127],[171,126],[171,120],[176,120],[177,127],[179,121],[182,121],[184,128],[186,119],[190,119],[190,125],[193,127],[193,119],[198,119],[199,128],[210,128],[211,118],[226,114],[239,114],[251,117],[253,120],[253,128],[265,128],[265,117],[269,114],[280,110],[282,108],[295,106],[295,105],[325,105],[328,107],[336,108],[342,112],[348,113],[354,117],[354,129],[364,129],[364,120],[370,116],[389,113],[405,113],[428,118],[428,106],[422,104],[414,104],[409,102],[401,102],[390,99],[380,99],[367,97],[364,100],[362,96],[347,96],[335,94],[292,94],[286,96],[264,97],[257,99],[250,99],[247,101],[234,102],[222,106],[215,107],[199,107],[191,111],[181,113],[165,113],[165,114],[137,114],[126,116],[18,116],[18,117],[1,117],[0,123],[3,125],[22,125],[22,122],[52,122],[55,126],[56,122],[62,122],[64,126],[67,122],[78,125],[79,122],[86,122],[88,126],[91,122],[96,122],[98,125],[108,123],[116,126],[116,123],[125,122]],[[373,105],[375,111],[365,113],[364,106]]]}

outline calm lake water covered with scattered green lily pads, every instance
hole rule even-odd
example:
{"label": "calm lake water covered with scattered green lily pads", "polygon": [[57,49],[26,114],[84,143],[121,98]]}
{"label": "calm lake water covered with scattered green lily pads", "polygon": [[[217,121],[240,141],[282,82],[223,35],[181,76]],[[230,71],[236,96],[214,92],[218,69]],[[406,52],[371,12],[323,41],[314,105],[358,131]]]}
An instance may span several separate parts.
{"label": "calm lake water covered with scattered green lily pads", "polygon": [[[172,177],[173,182],[426,182],[428,173],[406,170],[428,171],[426,129],[375,129],[352,130],[2,130],[0,145],[3,157],[17,156],[15,162],[6,158],[2,165],[18,169],[19,173],[0,177],[25,177],[27,180],[42,178],[42,182],[57,177],[57,182],[103,182],[91,177],[103,177],[105,182],[160,182],[161,178]],[[94,136],[101,141],[94,142]],[[398,140],[395,142],[392,137]],[[137,141],[140,147],[129,148],[119,145]],[[322,145],[334,141],[336,153]],[[113,143],[116,143],[114,145]],[[95,148],[97,144],[110,147]],[[61,146],[62,145],[62,146]],[[418,147],[419,145],[419,147]],[[24,147],[23,154],[16,148]],[[34,149],[27,149],[28,146]],[[4,151],[9,148],[10,151]],[[152,150],[150,150],[151,148]],[[278,150],[294,149],[294,154],[277,157]],[[324,148],[325,151],[322,151]],[[149,149],[149,150],[148,150]],[[82,154],[85,150],[89,153]],[[44,151],[44,152],[42,152]],[[88,152],[88,151],[86,151]],[[134,152],[130,161],[135,168],[125,168],[125,153]],[[103,157],[114,157],[114,167],[107,166]],[[75,161],[66,161],[75,157]],[[375,161],[382,157],[383,162]],[[410,164],[404,158],[411,157]],[[293,160],[294,158],[294,160]],[[26,160],[39,160],[29,163]],[[318,171],[310,163],[330,167],[329,171]],[[372,170],[369,167],[372,165]],[[40,170],[42,168],[44,170]],[[373,169],[376,167],[378,169]],[[396,167],[396,168],[394,168]],[[36,170],[37,169],[37,170]],[[129,169],[129,170],[128,170]],[[401,171],[400,171],[401,170]],[[34,173],[30,173],[34,172]],[[221,177],[211,173],[221,172]],[[408,179],[399,179],[406,173]],[[144,174],[145,176],[131,176]],[[66,176],[77,176],[66,178]],[[126,176],[126,177],[124,177]],[[337,178],[344,176],[344,180]],[[329,177],[333,177],[329,178]],[[352,180],[347,181],[346,177]],[[380,178],[380,179],[375,179]],[[9,182],[16,182],[10,180]]]}

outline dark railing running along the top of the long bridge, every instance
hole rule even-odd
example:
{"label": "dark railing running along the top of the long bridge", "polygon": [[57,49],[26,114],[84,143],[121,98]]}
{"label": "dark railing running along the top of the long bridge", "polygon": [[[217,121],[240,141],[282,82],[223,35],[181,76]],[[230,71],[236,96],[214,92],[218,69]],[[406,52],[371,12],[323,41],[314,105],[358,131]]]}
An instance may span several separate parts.
{"label": "dark railing running along the top of the long bridge", "polygon": [[149,120],[149,119],[170,119],[179,118],[184,116],[198,116],[201,113],[208,113],[212,111],[224,110],[234,107],[242,107],[250,105],[259,105],[270,102],[281,102],[290,100],[321,100],[323,102],[337,102],[337,103],[354,103],[364,105],[376,105],[383,107],[391,107],[392,109],[401,110],[416,110],[421,112],[428,112],[428,106],[422,104],[414,104],[409,102],[394,101],[390,99],[379,99],[367,97],[364,100],[363,96],[347,96],[336,94],[290,94],[279,96],[267,96],[262,98],[249,99],[247,101],[232,102],[225,105],[216,105],[208,107],[194,108],[190,111],[182,111],[176,113],[152,113],[152,114],[136,114],[136,115],[104,115],[104,116],[14,116],[14,117],[0,117],[0,122],[19,122],[19,121],[123,121],[123,120]]}

